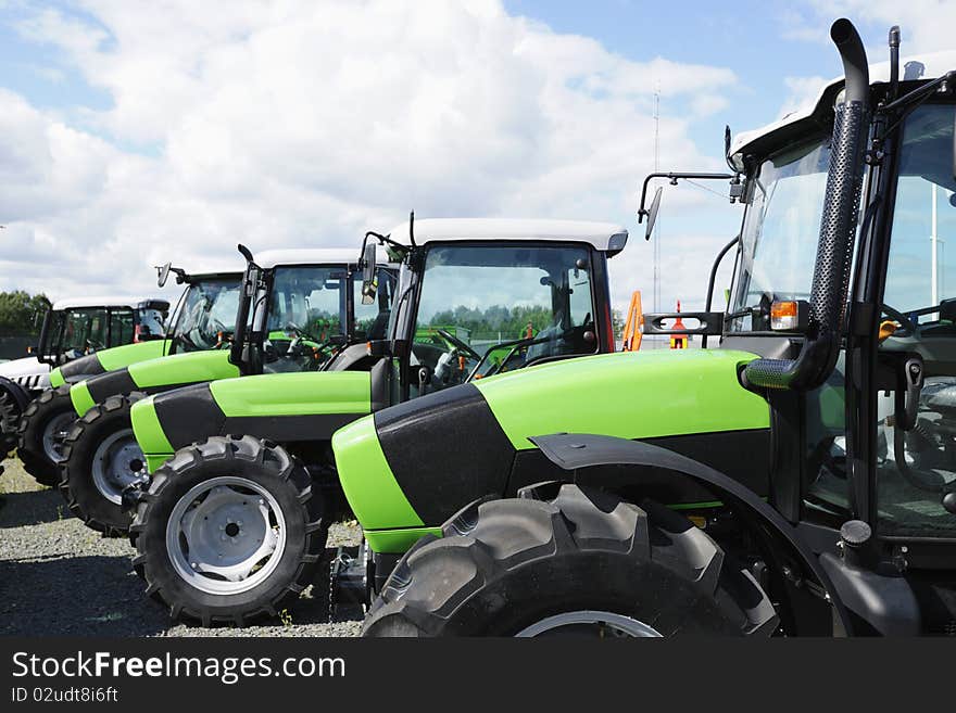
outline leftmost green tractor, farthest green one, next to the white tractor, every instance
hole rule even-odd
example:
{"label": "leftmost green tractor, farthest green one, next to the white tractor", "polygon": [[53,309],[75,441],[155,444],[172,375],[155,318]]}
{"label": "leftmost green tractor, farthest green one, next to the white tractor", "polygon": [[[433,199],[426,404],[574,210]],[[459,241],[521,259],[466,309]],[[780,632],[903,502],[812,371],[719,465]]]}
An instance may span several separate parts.
{"label": "leftmost green tractor, farthest green one, next to the white tractor", "polygon": [[[24,404],[17,422],[17,455],[27,472],[43,485],[54,486],[60,482],[63,438],[77,418],[71,403],[73,384],[167,354],[212,348],[214,342],[203,341],[206,324],[211,320],[223,319],[224,315],[235,314],[242,276],[238,267],[216,266],[187,273],[181,268],[165,265],[158,270],[160,287],[165,284],[172,272],[177,283],[186,284],[186,290],[179,298],[169,329],[154,324],[148,334],[151,339],[130,339],[122,346],[114,346],[120,344],[115,340],[106,340],[104,344],[109,344],[110,348],[84,351],[70,344],[73,335],[83,331],[79,324],[73,323],[72,313],[45,321],[39,352],[53,369],[49,374],[48,387]],[[168,303],[164,304],[168,309]],[[104,323],[109,322],[104,320]],[[142,329],[137,328],[137,333],[140,332]],[[142,334],[147,336],[146,332]],[[54,358],[67,347],[81,356],[70,360]]]}

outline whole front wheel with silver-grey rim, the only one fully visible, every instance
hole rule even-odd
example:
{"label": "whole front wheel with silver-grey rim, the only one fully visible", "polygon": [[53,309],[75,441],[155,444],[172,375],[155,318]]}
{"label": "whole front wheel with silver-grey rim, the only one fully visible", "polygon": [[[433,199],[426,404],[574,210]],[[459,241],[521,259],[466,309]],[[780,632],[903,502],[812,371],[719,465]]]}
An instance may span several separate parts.
{"label": "whole front wheel with silver-grey rim, the only one fully visible", "polygon": [[174,619],[243,626],[312,582],[328,522],[322,492],[284,448],[215,436],[156,470],[130,535],[147,594]]}

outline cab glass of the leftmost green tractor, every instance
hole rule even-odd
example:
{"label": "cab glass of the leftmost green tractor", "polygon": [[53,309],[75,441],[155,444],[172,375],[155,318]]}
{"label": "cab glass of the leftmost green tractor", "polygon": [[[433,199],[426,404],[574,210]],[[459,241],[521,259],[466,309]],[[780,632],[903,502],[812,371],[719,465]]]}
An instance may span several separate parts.
{"label": "cab glass of the leftmost green tractor", "polygon": [[239,283],[235,279],[193,282],[186,291],[176,328],[173,349],[199,352],[222,347],[236,331]]}

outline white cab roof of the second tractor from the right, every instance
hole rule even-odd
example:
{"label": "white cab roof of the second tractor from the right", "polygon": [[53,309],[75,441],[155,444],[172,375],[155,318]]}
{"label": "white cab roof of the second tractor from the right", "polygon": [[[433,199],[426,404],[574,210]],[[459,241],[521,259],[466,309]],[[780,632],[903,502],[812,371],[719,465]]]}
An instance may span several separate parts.
{"label": "white cab roof of the second tractor from the right", "polygon": [[[604,252],[618,253],[628,231],[613,222],[538,220],[515,218],[422,218],[415,220],[415,242],[465,240],[540,240],[590,243]],[[391,239],[408,242],[408,224],[395,226]]]}

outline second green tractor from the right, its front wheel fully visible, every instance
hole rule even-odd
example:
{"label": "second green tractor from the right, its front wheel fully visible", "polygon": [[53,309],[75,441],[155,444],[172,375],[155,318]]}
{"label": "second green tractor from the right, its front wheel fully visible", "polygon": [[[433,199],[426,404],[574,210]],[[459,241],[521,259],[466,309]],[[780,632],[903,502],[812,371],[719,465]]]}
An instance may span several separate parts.
{"label": "second green tractor from the right, its front wheel fully visible", "polygon": [[[377,237],[401,270],[388,334],[368,342],[361,371],[231,379],[134,405],[152,472],[135,494],[134,565],[174,617],[242,625],[274,616],[312,582],[329,522],[347,512],[330,447],[342,425],[393,404],[441,406],[457,384],[492,381],[504,368],[614,349],[607,258],[624,249],[624,228],[436,219],[399,234],[407,244]],[[376,292],[369,255],[365,300]],[[529,320],[534,336],[515,339]],[[502,349],[506,361],[489,361]],[[406,453],[443,457],[478,434],[464,428],[451,444],[408,442]],[[401,496],[385,485],[380,501]]]}

